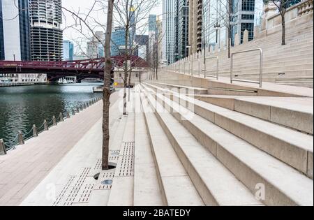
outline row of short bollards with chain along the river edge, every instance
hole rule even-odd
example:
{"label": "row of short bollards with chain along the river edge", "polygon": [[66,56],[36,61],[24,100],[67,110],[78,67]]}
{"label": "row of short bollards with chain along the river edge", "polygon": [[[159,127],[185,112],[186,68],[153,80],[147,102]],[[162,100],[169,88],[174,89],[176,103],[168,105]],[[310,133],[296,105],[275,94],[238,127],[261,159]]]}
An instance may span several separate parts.
{"label": "row of short bollards with chain along the river edge", "polygon": [[[79,113],[81,110],[84,110],[88,108],[90,105],[94,105],[96,102],[102,100],[102,98],[93,98],[90,101],[87,101],[87,103],[83,103],[79,105],[77,108],[72,109],[72,115],[75,115],[76,113]],[[34,124],[32,129],[27,133],[22,133],[22,131],[17,131],[17,135],[13,140],[10,140],[9,142],[5,142],[3,139],[0,139],[0,155],[7,154],[7,152],[11,149],[15,149],[17,145],[24,145],[26,140],[29,140],[34,137],[38,137],[38,135],[44,131],[48,131],[52,126],[57,126],[60,122],[64,122],[64,120],[70,118],[70,112],[66,111],[63,115],[62,112],[60,112],[59,117],[53,116],[50,122],[47,122],[45,119],[43,121],[43,124],[41,124],[40,127],[36,127]]]}

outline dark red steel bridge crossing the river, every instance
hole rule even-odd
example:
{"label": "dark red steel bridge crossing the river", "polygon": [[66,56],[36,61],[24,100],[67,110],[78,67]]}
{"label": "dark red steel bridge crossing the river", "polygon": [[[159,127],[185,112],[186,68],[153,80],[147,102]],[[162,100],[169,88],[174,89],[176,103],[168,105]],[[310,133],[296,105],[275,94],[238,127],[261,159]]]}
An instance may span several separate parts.
{"label": "dark red steel bridge crossing the river", "polygon": [[[127,58],[133,67],[148,67],[144,59],[137,56]],[[126,57],[112,57],[114,67],[124,66]],[[0,61],[0,73],[24,74],[44,73],[50,81],[58,80],[65,76],[76,76],[77,80],[84,78],[103,79],[105,59],[85,59],[76,61]]]}

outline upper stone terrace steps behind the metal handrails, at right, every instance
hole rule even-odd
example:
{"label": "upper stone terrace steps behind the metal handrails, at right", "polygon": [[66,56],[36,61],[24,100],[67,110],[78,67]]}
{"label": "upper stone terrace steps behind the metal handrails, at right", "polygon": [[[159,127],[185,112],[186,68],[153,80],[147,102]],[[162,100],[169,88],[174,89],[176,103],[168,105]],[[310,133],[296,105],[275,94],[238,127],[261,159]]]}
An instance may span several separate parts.
{"label": "upper stone terrace steps behind the metal handrails, at right", "polygon": [[[262,48],[264,82],[313,88],[313,12],[287,22],[286,42],[286,45],[281,45],[281,27],[276,27],[267,36],[232,47],[232,52]],[[193,69],[194,75],[216,75],[216,60],[207,59],[205,69],[203,56],[203,53],[193,54],[167,69],[169,73],[179,71],[187,74]],[[230,59],[227,58],[226,48],[212,52],[207,50],[206,57],[216,56],[219,57],[220,78],[230,78]],[[234,78],[258,80],[259,65],[260,56],[256,51],[235,54]]]}

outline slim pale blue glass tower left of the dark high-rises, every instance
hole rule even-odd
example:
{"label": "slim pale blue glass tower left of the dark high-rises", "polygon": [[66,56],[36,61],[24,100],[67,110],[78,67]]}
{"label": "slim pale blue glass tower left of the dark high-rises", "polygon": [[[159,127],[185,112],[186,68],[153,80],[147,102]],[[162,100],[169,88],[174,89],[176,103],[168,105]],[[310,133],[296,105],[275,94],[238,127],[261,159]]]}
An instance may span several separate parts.
{"label": "slim pale blue glass tower left of the dark high-rises", "polygon": [[163,0],[163,63],[174,63],[176,0]]}

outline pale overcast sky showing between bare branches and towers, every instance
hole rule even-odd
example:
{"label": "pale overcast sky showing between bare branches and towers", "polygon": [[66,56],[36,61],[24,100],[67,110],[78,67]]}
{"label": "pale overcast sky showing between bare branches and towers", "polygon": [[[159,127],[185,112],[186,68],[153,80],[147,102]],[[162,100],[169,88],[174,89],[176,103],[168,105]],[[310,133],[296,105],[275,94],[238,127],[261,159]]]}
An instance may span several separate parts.
{"label": "pale overcast sky showing between bare branches and towers", "polygon": [[[160,1],[159,6],[154,8],[154,10],[151,11],[151,14],[154,14],[154,15],[162,14],[162,0],[159,0],[159,1]],[[91,1],[91,0],[63,0],[62,6],[76,13],[80,11],[80,13],[87,14],[90,8],[92,7],[93,3],[94,1]],[[104,10],[98,10],[98,11],[95,10],[93,13],[91,13],[90,17],[93,17],[93,19],[95,18],[98,22],[105,24],[107,15],[104,13]],[[143,21],[143,22],[147,22],[147,21]],[[94,23],[94,25],[96,25],[96,22],[93,22],[93,20],[89,20],[89,23],[90,24]],[[82,39],[86,38],[84,36],[90,36],[88,33],[89,31],[87,30],[87,28],[84,28],[84,30],[82,31],[83,33],[81,33],[81,31],[77,31],[71,27],[71,25],[73,24],[75,24],[75,21],[73,20],[72,15],[66,12],[66,10],[63,10],[63,24],[62,24],[62,27],[64,29],[63,38],[70,41],[74,41],[75,45],[81,44],[80,42],[83,41]],[[94,27],[94,28],[99,31],[104,31],[100,27]],[[82,47],[84,47],[84,43],[82,43]],[[79,52],[79,51],[76,51],[76,52]]]}

